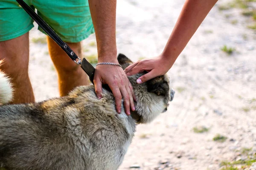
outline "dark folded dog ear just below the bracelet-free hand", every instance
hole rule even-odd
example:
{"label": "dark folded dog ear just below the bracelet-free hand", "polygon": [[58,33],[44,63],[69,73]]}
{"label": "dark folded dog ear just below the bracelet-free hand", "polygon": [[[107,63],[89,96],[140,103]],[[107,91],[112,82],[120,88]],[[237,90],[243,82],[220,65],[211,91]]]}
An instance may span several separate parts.
{"label": "dark folded dog ear just below the bracelet-free hand", "polygon": [[164,76],[159,76],[147,82],[148,92],[155,93],[157,96],[165,96],[169,93],[168,82],[164,80]]}

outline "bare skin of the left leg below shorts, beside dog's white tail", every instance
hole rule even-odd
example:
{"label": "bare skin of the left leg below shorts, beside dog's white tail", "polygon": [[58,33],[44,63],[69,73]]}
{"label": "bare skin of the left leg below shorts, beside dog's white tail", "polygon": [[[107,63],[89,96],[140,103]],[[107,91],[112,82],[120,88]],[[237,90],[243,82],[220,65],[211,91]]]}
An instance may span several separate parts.
{"label": "bare skin of the left leg below shorts, beside dog's white tail", "polygon": [[0,69],[11,78],[14,90],[12,103],[34,102],[29,80],[29,33],[12,40],[0,42]]}

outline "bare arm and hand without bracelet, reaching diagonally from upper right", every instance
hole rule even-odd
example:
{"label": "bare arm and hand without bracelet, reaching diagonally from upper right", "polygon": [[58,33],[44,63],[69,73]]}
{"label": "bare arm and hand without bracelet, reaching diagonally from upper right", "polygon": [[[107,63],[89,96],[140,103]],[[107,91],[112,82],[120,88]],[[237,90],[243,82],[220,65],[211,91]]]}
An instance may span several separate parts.
{"label": "bare arm and hand without bracelet, reaching diagonally from upper right", "polygon": [[125,69],[125,73],[130,76],[148,71],[137,80],[138,83],[166,74],[217,1],[186,0],[162,54],[135,62]]}

